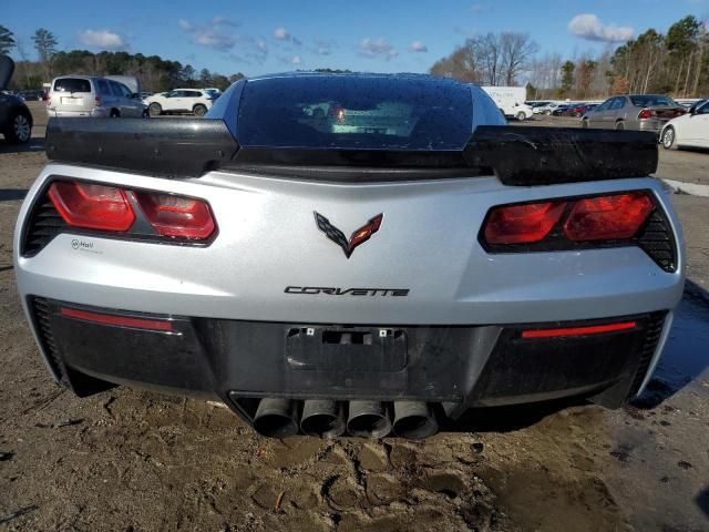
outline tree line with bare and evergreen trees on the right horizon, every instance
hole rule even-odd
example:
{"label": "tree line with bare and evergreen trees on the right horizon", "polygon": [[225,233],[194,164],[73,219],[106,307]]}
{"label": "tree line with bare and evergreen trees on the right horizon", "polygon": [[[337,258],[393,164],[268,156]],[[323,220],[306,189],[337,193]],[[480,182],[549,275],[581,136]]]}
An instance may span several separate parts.
{"label": "tree line with bare and evergreen trees on the right horizon", "polygon": [[527,83],[527,96],[600,99],[620,93],[661,93],[675,98],[709,94],[709,25],[692,16],[666,34],[649,29],[615,50],[564,60],[537,55],[527,33],[487,33],[466,39],[430,72],[485,85]]}

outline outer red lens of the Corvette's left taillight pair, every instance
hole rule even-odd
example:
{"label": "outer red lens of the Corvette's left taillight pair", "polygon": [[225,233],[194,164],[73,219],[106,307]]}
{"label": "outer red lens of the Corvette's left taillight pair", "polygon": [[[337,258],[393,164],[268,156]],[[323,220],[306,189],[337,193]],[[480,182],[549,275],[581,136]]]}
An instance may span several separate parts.
{"label": "outer red lens of the Corvette's left taillight pair", "polygon": [[125,192],[113,186],[58,181],[49,187],[49,197],[74,227],[127,231],[135,221]]}

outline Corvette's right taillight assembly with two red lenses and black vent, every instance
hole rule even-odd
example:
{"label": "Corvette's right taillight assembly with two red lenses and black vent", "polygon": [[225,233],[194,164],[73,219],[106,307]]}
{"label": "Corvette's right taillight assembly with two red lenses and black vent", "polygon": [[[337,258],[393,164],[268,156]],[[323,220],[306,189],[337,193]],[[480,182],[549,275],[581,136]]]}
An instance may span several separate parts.
{"label": "Corvette's right taillight assembly with two red lenses and black vent", "polygon": [[499,205],[479,234],[491,254],[638,246],[666,272],[676,269],[676,244],[649,191]]}

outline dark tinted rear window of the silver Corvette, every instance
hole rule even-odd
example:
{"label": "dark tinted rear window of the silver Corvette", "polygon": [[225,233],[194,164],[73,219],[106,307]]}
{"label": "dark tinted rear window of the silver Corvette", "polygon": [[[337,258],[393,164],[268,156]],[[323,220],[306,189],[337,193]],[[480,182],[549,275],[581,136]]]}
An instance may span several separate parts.
{"label": "dark tinted rear window of the silver Corvette", "polygon": [[237,123],[244,146],[461,150],[472,96],[427,78],[274,78],[246,83]]}

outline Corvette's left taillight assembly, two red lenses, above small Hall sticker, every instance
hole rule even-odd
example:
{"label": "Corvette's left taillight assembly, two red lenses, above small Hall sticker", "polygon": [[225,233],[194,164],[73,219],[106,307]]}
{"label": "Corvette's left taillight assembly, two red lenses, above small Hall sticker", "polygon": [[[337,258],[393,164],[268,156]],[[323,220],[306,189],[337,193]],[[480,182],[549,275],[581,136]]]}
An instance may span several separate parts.
{"label": "Corvette's left taillight assembly, two red lenses, above small Hall sticker", "polygon": [[83,181],[53,181],[27,225],[23,255],[71,231],[163,244],[210,244],[217,225],[204,200]]}

